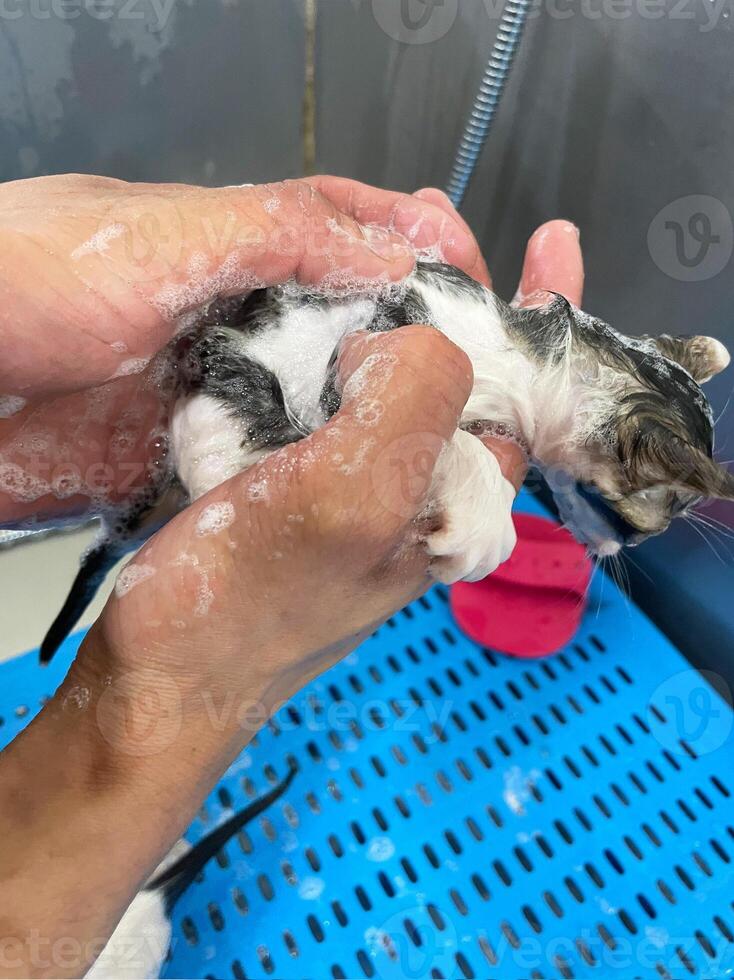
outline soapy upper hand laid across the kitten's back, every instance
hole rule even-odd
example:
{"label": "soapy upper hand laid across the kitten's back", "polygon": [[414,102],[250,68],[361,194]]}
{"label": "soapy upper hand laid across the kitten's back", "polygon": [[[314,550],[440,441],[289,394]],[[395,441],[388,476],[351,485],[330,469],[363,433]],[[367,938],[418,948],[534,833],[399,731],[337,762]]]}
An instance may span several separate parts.
{"label": "soapy upper hand laid across the kitten's back", "polygon": [[143,367],[192,308],[291,278],[337,289],[399,280],[426,248],[486,282],[447,204],[335,177],[0,186],[0,396],[13,396],[0,398],[0,525],[81,516],[145,485],[165,450],[166,405]]}

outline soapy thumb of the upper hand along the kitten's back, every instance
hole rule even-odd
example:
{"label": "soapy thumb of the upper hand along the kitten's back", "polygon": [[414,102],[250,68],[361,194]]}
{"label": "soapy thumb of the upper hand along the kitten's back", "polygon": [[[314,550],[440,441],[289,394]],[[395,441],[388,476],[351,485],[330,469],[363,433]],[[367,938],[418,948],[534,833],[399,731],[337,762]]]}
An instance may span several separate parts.
{"label": "soapy thumb of the upper hand along the kitten's back", "polygon": [[[163,279],[143,284],[169,319],[216,296],[290,279],[325,288],[364,288],[373,281],[399,281],[415,265],[413,249],[399,229],[361,221],[307,181],[176,188],[161,201],[166,208],[171,203],[181,248]],[[165,235],[163,217],[158,226]]]}

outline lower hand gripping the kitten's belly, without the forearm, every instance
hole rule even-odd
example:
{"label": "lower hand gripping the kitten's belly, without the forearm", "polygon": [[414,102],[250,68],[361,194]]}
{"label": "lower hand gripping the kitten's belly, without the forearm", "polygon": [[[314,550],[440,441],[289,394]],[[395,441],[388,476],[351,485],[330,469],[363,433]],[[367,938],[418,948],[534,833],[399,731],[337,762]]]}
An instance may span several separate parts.
{"label": "lower hand gripping the kitten's belly, without the forearm", "polygon": [[[520,303],[542,301],[541,284],[579,303],[582,283],[576,229],[543,226],[528,245]],[[222,697],[259,690],[269,713],[428,586],[427,494],[471,388],[468,362],[437,331],[410,327],[352,338],[339,369],[342,408],[327,426],[216,488],[138,554],[130,575],[145,588],[113,597],[99,625],[127,669],[138,656],[173,665],[194,700],[205,679]],[[482,441],[519,488],[521,450]],[[210,526],[219,533],[201,533]],[[246,689],[243,636],[260,651]],[[202,645],[212,651],[205,664]]]}

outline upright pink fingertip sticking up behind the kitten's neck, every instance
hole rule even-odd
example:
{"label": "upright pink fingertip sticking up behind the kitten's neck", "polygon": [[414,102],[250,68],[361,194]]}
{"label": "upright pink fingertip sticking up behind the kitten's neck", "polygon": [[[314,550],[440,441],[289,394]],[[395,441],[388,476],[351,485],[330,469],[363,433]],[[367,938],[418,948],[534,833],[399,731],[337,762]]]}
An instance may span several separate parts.
{"label": "upright pink fingertip sticking up behind the kitten's neck", "polygon": [[584,261],[578,228],[570,221],[548,221],[534,232],[525,252],[522,277],[513,304],[542,306],[561,293],[576,306],[584,290]]}

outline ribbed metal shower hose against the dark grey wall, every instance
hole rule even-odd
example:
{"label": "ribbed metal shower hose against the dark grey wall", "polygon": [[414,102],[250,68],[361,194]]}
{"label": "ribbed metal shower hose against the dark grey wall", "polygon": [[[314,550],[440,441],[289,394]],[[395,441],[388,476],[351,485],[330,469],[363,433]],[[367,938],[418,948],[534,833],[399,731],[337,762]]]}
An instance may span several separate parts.
{"label": "ribbed metal shower hose against the dark grey wall", "polygon": [[446,192],[455,207],[464,202],[469,182],[487,142],[510,74],[532,0],[507,0],[479,92],[459,143]]}

